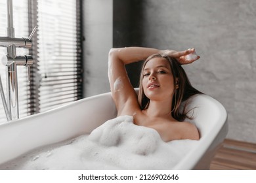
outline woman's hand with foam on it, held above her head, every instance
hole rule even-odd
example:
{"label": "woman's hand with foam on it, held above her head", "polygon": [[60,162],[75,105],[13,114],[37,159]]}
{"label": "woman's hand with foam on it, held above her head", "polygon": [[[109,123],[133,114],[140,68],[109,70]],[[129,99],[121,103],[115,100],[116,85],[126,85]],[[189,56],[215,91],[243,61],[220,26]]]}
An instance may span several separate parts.
{"label": "woman's hand with foam on it, held above her head", "polygon": [[177,52],[175,50],[163,50],[163,54],[176,58],[181,65],[192,63],[200,58],[194,48]]}

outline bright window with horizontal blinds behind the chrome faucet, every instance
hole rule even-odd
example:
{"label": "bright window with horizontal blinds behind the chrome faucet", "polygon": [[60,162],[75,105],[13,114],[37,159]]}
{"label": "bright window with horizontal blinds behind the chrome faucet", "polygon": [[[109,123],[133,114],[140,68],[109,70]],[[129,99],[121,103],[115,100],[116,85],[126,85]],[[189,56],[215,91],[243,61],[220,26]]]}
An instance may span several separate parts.
{"label": "bright window with horizontal blinds behind the chrome faucet", "polygon": [[[18,66],[20,118],[70,103],[82,96],[81,10],[76,0],[13,0],[15,37],[29,37],[32,48],[17,48],[17,56],[33,56],[31,82],[26,67]],[[0,2],[0,37],[6,37],[7,5]],[[0,47],[0,57],[6,48]],[[1,63],[0,63],[1,64]],[[3,87],[5,66],[0,65]],[[5,89],[6,95],[6,89]],[[0,123],[6,122],[0,99]]]}

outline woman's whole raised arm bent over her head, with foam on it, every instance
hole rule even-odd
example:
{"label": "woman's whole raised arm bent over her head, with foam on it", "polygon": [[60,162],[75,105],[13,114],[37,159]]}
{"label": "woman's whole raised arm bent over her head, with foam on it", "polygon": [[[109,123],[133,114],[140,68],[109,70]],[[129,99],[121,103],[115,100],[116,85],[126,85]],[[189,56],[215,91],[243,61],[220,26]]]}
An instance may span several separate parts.
{"label": "woman's whole raised arm bent over her head, with foam on it", "polygon": [[177,52],[142,47],[112,48],[108,56],[108,78],[112,97],[118,111],[117,115],[132,115],[133,109],[140,108],[137,95],[125,70],[125,65],[144,60],[152,54],[167,54],[177,58],[181,64],[184,64],[188,62],[185,56],[192,53],[194,53],[193,49]]}

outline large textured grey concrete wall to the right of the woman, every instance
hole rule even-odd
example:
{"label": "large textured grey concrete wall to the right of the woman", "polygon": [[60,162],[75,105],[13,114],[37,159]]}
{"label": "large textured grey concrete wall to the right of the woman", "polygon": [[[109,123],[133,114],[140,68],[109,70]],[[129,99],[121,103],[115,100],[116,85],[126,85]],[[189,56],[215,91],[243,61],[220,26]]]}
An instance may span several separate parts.
{"label": "large textured grey concrete wall to the right of the woman", "polygon": [[228,112],[228,138],[256,142],[256,1],[143,0],[142,46],[196,48],[192,84]]}

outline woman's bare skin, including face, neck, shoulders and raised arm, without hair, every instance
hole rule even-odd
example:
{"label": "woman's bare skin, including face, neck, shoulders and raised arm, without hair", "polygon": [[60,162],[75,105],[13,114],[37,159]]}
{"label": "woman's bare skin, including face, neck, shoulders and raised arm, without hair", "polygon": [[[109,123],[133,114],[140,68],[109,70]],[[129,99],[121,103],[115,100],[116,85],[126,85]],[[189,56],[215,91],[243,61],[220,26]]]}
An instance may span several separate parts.
{"label": "woman's bare skin, including face, neck, shoulders and raised arm, without hair", "polygon": [[156,129],[163,141],[178,139],[200,139],[198,129],[189,122],[178,122],[171,116],[171,103],[175,84],[167,61],[163,58],[153,58],[143,71],[142,86],[145,95],[150,99],[147,109],[141,110],[137,94],[129,81],[125,65],[144,60],[152,54],[168,54],[175,57],[181,64],[192,63],[196,59],[186,60],[187,54],[194,49],[177,52],[174,50],[157,50],[154,48],[112,48],[108,59],[108,77],[112,97],[117,107],[117,116],[130,115],[134,123]]}

